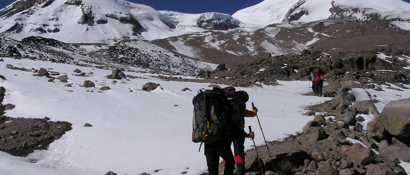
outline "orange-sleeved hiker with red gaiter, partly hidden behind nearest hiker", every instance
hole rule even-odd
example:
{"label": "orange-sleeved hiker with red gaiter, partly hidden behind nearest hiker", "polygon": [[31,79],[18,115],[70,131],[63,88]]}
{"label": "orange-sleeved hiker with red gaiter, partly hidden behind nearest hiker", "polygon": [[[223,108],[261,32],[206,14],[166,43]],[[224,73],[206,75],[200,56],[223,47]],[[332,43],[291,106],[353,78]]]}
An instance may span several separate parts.
{"label": "orange-sleeved hiker with red gaiter, partly hidden behind nearest hiker", "polygon": [[[227,97],[232,108],[231,116],[233,121],[244,131],[245,117],[255,117],[257,108],[253,111],[246,109],[246,102],[249,100],[249,95],[245,91],[235,91],[235,87],[228,86],[223,88],[224,95]],[[245,174],[245,137],[232,137],[232,143],[234,148],[234,158],[236,162],[237,174]],[[230,146],[230,144],[229,144]]]}

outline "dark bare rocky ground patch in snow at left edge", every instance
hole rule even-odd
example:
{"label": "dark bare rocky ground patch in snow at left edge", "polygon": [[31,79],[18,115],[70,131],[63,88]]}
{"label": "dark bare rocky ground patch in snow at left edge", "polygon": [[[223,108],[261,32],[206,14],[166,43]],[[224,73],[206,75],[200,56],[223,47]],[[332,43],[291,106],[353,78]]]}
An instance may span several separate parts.
{"label": "dark bare rocky ground patch in snow at left edge", "polygon": [[27,156],[34,150],[47,149],[50,143],[71,130],[70,123],[51,122],[49,117],[29,119],[5,116],[7,110],[15,107],[1,103],[5,92],[5,88],[0,87],[0,151],[14,156]]}

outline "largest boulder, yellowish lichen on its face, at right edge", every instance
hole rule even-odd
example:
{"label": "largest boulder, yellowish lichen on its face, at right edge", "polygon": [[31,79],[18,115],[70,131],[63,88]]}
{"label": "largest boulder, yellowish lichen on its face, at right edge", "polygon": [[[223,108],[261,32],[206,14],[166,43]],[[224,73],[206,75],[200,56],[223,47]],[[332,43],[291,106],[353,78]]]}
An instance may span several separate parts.
{"label": "largest boulder, yellowish lichen on its face, at right edge", "polygon": [[410,98],[391,101],[378,115],[377,121],[383,124],[390,134],[397,138],[410,140]]}

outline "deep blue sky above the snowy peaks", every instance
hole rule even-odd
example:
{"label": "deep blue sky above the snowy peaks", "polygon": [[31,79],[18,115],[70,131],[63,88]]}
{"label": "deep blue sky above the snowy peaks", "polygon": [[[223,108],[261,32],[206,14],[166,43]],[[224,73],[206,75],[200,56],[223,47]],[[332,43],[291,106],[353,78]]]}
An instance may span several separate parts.
{"label": "deep blue sky above the snowy peaks", "polygon": [[[0,0],[0,9],[16,0]],[[183,13],[219,12],[232,15],[240,9],[255,5],[263,0],[128,0],[146,4],[156,10],[171,10]],[[410,0],[404,0],[409,2]]]}

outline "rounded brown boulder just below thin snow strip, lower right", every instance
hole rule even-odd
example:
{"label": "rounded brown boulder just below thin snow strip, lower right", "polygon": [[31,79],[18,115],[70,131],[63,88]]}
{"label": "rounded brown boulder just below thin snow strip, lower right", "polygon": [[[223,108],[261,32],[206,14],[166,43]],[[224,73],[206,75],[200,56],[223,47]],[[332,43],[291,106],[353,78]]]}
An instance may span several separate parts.
{"label": "rounded brown boulder just below thin snow strip, lower right", "polygon": [[347,157],[358,164],[369,165],[376,160],[376,153],[370,148],[364,148],[360,143],[355,143],[346,152]]}

